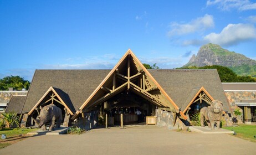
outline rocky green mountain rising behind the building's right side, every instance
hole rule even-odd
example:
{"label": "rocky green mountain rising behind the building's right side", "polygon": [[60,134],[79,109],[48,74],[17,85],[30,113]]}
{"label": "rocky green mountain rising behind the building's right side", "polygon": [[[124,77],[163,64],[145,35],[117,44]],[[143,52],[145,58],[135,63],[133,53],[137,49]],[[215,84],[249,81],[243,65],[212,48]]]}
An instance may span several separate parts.
{"label": "rocky green mountain rising behind the building's right side", "polygon": [[221,48],[216,44],[206,44],[201,46],[197,55],[193,55],[190,61],[183,67],[188,66],[227,66],[240,76],[256,77],[256,61],[243,54],[235,53]]}

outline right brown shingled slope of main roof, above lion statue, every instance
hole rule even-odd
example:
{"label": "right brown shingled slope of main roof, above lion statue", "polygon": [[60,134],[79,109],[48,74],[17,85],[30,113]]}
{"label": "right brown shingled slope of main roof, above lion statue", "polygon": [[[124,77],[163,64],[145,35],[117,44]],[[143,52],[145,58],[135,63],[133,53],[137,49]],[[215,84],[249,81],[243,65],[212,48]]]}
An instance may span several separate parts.
{"label": "right brown shingled slope of main roof, above lion statue", "polygon": [[230,112],[216,69],[160,69],[149,72],[180,108],[186,107],[184,105],[203,87],[214,100],[223,102],[225,111]]}

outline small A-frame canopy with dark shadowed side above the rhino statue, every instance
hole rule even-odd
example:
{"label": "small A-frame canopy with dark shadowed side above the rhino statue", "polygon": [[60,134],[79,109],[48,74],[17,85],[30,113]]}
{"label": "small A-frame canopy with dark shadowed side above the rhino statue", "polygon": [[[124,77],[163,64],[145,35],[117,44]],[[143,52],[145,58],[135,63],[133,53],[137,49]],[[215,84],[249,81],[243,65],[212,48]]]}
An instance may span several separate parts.
{"label": "small A-frame canopy with dark shadowed side above the rhino statue", "polygon": [[41,99],[35,104],[35,106],[28,112],[28,115],[31,115],[35,110],[38,110],[39,106],[45,106],[48,104],[53,104],[57,102],[65,107],[66,112],[70,115],[74,115],[73,105],[70,104],[70,99],[64,95],[65,93],[58,88],[50,86],[50,88],[45,92]]}

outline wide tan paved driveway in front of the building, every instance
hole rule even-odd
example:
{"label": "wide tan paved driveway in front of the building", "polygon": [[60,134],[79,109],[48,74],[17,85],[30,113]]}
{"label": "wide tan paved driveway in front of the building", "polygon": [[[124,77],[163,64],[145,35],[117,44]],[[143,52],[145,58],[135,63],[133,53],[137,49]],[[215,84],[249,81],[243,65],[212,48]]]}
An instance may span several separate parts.
{"label": "wide tan paved driveway in front of the building", "polygon": [[0,154],[256,154],[256,143],[226,133],[129,126],[91,130],[83,135],[34,136],[1,149]]}

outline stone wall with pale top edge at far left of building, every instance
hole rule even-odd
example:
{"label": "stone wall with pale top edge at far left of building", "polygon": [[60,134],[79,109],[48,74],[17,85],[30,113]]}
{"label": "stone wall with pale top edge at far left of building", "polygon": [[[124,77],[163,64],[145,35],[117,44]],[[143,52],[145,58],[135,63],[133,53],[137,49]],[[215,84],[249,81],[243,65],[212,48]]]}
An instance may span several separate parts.
{"label": "stone wall with pale top edge at far left of building", "polygon": [[9,103],[12,95],[27,95],[28,91],[0,91],[0,103]]}

